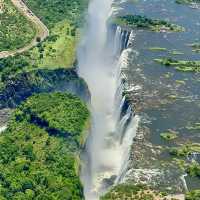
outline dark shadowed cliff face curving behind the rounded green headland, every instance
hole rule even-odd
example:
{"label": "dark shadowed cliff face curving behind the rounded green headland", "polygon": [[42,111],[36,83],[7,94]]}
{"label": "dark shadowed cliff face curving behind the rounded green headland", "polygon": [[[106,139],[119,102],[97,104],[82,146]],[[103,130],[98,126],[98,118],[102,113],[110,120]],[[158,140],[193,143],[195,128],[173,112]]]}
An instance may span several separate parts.
{"label": "dark shadowed cliff face curving behind the rounded green headland", "polygon": [[24,72],[8,79],[0,90],[0,109],[15,108],[34,93],[70,92],[85,102],[89,102],[90,93],[83,79],[75,69],[39,69]]}

